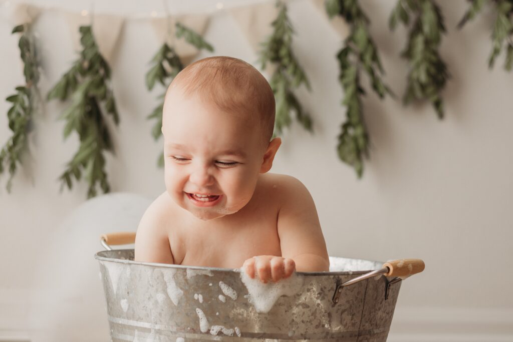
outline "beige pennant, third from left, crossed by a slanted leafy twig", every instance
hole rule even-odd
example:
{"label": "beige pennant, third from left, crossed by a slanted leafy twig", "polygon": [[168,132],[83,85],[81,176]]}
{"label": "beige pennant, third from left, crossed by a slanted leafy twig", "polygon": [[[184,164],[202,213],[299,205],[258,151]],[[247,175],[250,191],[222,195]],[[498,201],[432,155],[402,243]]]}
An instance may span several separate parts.
{"label": "beige pennant, third from left, crossed by a slanted leafy twig", "polygon": [[182,59],[182,62],[187,65],[198,55],[199,50],[187,43],[183,37],[176,38],[175,25],[176,23],[180,23],[194,32],[203,35],[209,21],[210,15],[179,15],[151,18],[151,25],[157,35],[157,39],[159,39],[159,44],[167,43],[169,46],[173,47],[180,56],[180,59]]}

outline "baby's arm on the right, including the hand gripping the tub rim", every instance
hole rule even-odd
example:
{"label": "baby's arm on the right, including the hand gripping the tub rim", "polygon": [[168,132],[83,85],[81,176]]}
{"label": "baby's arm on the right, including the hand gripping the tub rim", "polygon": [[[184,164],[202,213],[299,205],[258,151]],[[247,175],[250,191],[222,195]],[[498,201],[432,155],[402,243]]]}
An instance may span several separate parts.
{"label": "baby's arm on the right, including the hand gripping the tub rim", "polygon": [[264,283],[300,272],[329,271],[329,257],[313,199],[306,187],[290,176],[280,175],[278,235],[282,256],[261,255],[246,260],[250,277]]}

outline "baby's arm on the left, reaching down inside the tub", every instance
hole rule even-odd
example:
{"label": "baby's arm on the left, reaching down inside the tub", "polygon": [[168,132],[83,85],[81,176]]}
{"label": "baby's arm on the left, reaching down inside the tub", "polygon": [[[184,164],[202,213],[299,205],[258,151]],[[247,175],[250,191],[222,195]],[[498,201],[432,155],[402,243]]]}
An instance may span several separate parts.
{"label": "baby's arm on the left, reaching down inside the tub", "polygon": [[166,193],[149,206],[144,213],[135,235],[135,261],[174,264],[166,229]]}

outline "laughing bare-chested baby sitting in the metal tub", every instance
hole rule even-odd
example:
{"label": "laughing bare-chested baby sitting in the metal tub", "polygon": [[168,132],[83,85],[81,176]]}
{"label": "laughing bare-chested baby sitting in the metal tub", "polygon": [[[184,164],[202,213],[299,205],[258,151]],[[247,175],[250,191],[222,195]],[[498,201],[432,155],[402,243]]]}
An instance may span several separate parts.
{"label": "laughing bare-chested baby sitting in the metal tub", "polygon": [[147,209],[135,260],[240,268],[264,283],[295,270],[328,271],[310,193],[267,173],[274,96],[262,74],[231,57],[209,57],[169,86],[162,120],[166,191]]}

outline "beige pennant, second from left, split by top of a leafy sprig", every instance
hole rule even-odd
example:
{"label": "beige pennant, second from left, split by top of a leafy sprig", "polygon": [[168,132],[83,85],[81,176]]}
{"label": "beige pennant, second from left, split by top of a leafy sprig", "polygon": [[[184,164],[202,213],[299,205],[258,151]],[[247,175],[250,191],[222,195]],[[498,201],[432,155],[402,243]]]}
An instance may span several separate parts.
{"label": "beige pennant, second from left, split by top of a leafy sprig", "polygon": [[64,15],[71,30],[75,49],[78,51],[82,50],[78,29],[81,26],[91,25],[92,23],[94,41],[98,46],[98,51],[100,51],[107,63],[112,65],[117,39],[120,36],[125,18],[107,14],[94,14],[91,18],[90,14],[82,15],[71,12],[64,12]]}

